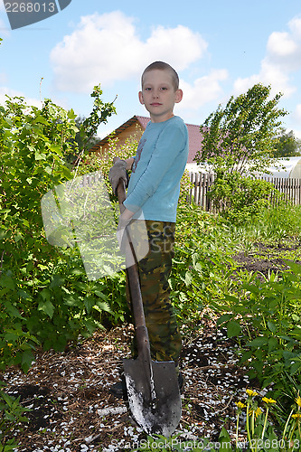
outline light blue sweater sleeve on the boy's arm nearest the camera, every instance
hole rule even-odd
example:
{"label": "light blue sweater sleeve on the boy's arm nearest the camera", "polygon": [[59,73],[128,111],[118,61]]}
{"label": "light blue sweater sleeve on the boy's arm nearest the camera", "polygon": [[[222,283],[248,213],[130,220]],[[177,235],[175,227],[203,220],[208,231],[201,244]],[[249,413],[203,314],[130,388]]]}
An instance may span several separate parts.
{"label": "light blue sweater sleeve on the boy's arm nearest the camera", "polygon": [[156,141],[146,170],[124,202],[128,210],[137,212],[155,193],[158,186],[165,183],[165,174],[171,170],[174,162],[183,152],[185,143],[186,137],[181,127],[169,125],[164,128]]}

